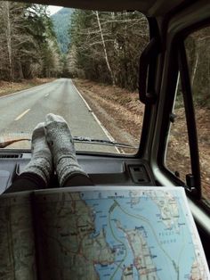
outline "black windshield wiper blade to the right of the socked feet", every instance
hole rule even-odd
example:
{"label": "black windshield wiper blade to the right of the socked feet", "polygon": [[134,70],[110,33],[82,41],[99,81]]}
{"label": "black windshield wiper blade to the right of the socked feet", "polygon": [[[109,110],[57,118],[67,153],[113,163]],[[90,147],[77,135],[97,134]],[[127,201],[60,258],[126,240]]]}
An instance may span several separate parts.
{"label": "black windshield wiper blade to the right of the socked feet", "polygon": [[117,147],[122,147],[122,148],[130,148],[130,149],[138,149],[138,147],[133,146],[131,144],[124,144],[124,143],[118,143],[115,141],[111,140],[106,140],[106,139],[94,139],[90,137],[83,137],[83,136],[75,136],[73,137],[74,142],[76,143],[86,143],[86,144],[105,144],[105,145],[110,145],[110,146],[117,146]]}

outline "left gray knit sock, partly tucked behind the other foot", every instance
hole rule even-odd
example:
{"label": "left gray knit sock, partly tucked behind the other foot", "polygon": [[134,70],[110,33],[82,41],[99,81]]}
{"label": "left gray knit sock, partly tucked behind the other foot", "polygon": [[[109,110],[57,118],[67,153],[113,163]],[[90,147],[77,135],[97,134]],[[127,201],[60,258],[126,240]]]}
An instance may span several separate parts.
{"label": "left gray knit sock, partly tucked behind the other foot", "polygon": [[29,172],[44,179],[48,185],[52,175],[52,154],[46,143],[44,134],[44,122],[39,123],[33,131],[31,142],[31,161],[23,173]]}

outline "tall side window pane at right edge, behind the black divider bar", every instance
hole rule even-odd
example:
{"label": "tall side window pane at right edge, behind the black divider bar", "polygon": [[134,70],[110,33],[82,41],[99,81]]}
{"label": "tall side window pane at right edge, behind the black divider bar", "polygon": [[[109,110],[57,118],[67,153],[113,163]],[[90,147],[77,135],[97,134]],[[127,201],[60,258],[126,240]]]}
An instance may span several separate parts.
{"label": "tall side window pane at right edge, behind the black divider bar", "polygon": [[185,40],[195,107],[202,201],[210,208],[210,27]]}

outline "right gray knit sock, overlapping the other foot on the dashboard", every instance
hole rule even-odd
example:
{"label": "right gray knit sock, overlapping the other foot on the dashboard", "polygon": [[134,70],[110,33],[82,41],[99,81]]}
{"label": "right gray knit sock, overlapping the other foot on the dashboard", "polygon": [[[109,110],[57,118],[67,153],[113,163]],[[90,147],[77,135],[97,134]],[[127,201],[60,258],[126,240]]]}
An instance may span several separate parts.
{"label": "right gray knit sock, overlapping the other foot on the dashboard", "polygon": [[59,183],[64,185],[69,177],[88,175],[77,162],[75,146],[69,126],[61,116],[48,114],[44,122],[45,136],[49,145]]}

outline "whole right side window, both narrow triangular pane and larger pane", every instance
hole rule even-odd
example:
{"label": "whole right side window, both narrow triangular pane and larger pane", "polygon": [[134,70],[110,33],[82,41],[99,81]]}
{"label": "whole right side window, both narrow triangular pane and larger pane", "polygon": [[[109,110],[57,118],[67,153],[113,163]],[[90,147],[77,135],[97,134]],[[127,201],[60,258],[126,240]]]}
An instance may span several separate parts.
{"label": "whole right side window, both narrow triangular pane and larger pane", "polygon": [[[210,208],[210,28],[200,29],[190,34],[185,40],[185,48],[198,132],[201,199]],[[185,183],[185,176],[191,173],[191,168],[180,83],[177,86],[174,114],[176,117],[168,138],[166,167]]]}

